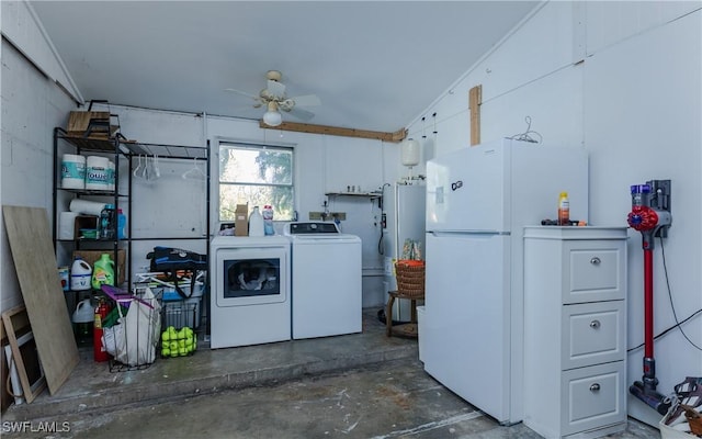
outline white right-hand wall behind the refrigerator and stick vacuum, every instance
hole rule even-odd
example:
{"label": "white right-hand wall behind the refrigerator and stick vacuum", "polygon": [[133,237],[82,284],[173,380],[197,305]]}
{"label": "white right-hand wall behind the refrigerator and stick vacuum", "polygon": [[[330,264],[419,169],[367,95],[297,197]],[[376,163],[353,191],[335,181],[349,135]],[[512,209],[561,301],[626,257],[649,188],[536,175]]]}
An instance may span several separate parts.
{"label": "white right-hand wall behind the refrigerator and stick vacuum", "polygon": [[[590,224],[626,226],[630,185],[672,180],[673,224],[664,244],[670,294],[683,319],[702,308],[701,22],[699,2],[548,2],[422,114],[435,112],[439,121],[427,156],[469,145],[468,90],[482,85],[483,140],[522,133],[531,116],[543,144],[585,146]],[[409,127],[415,138],[422,115]],[[627,347],[634,348],[643,342],[643,256],[639,235],[630,230],[630,237]],[[659,334],[675,318],[658,241],[656,247]],[[702,317],[683,329],[702,346]],[[679,330],[655,349],[661,393],[700,375],[702,352]],[[630,352],[627,383],[641,380],[642,357],[643,349]],[[632,397],[629,409],[648,423],[659,419]]]}

